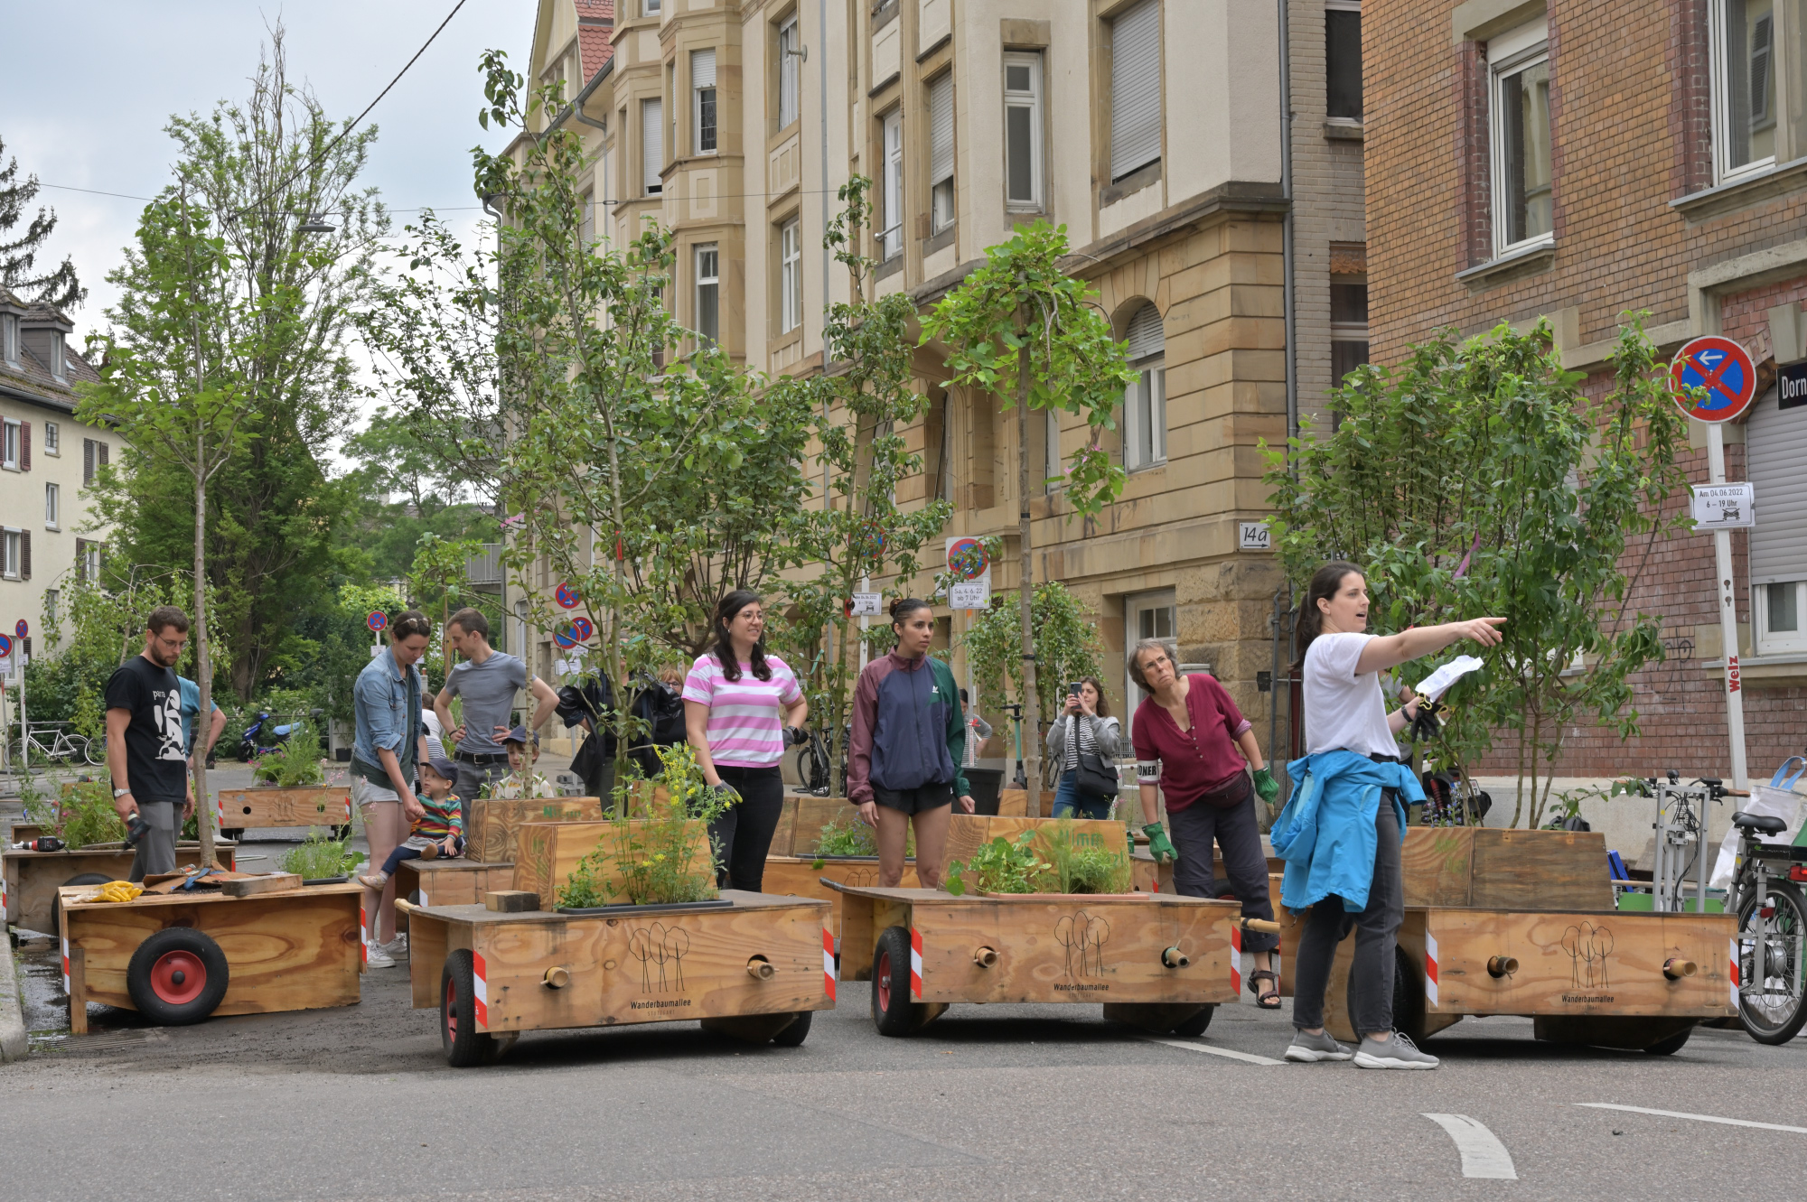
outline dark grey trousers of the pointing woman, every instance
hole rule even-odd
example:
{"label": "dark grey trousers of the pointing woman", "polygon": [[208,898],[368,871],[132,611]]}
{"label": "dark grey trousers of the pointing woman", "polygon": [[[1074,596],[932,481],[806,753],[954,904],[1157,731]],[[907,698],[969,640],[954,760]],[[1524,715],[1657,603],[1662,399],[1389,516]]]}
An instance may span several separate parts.
{"label": "dark grey trousers of the pointing woman", "polygon": [[1350,964],[1348,1012],[1355,1038],[1393,1029],[1393,944],[1406,917],[1404,879],[1399,870],[1399,818],[1393,791],[1381,791],[1381,812],[1373,819],[1373,884],[1368,908],[1348,913],[1341,897],[1326,897],[1312,906],[1299,938],[1299,957],[1292,969],[1292,1025],[1325,1025],[1325,989],[1337,944],[1355,931],[1355,960]]}

